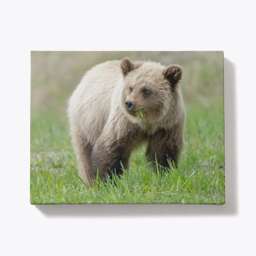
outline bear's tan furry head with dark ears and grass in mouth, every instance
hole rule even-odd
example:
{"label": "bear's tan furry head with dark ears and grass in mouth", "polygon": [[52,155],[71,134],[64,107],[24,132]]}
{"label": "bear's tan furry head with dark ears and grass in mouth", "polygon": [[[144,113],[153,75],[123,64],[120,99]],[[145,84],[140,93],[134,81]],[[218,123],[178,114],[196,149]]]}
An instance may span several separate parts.
{"label": "bear's tan furry head with dark ears and grass in mouth", "polygon": [[124,78],[121,104],[130,116],[136,118],[136,112],[140,112],[143,118],[156,117],[175,106],[183,75],[179,65],[165,67],[152,61],[124,58],[120,68]]}

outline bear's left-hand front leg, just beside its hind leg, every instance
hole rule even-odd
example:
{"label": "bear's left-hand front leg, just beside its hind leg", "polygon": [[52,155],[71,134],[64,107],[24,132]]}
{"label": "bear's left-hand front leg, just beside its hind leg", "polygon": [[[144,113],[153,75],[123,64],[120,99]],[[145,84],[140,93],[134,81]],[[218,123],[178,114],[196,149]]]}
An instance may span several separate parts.
{"label": "bear's left-hand front leg, just beside its hind leg", "polygon": [[117,176],[123,173],[121,163],[126,169],[136,140],[134,130],[127,131],[127,127],[118,131],[112,127],[107,131],[101,134],[92,150],[92,175],[96,177],[99,170],[101,180],[106,178],[107,173],[111,177],[111,171]]}

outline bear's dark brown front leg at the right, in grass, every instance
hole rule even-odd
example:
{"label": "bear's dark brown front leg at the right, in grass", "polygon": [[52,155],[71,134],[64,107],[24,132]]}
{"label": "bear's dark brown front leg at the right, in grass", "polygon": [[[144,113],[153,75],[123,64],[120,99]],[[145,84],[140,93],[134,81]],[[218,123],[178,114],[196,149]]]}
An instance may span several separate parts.
{"label": "bear's dark brown front leg at the right, in grass", "polygon": [[153,162],[169,168],[174,164],[178,167],[180,151],[183,147],[183,129],[173,127],[173,130],[158,130],[149,140],[146,156]]}

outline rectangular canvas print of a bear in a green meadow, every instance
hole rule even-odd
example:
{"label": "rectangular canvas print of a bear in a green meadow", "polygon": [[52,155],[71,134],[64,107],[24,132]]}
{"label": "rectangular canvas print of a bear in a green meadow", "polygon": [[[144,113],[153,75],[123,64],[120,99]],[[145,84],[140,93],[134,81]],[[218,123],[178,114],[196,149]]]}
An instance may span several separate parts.
{"label": "rectangular canvas print of a bear in a green meadow", "polygon": [[223,52],[31,52],[31,204],[225,204]]}

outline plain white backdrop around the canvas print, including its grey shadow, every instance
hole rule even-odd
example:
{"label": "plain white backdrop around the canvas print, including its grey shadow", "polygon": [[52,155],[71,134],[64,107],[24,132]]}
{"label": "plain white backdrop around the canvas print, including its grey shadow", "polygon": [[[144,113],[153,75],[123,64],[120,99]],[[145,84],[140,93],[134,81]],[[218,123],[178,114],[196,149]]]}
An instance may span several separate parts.
{"label": "plain white backdrop around the canvas print, including its grey shadow", "polygon": [[[253,4],[151,3],[0,2],[1,255],[255,253]],[[31,50],[224,51],[226,204],[30,205]]]}

